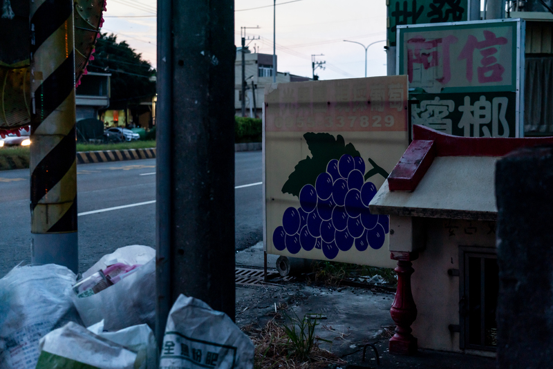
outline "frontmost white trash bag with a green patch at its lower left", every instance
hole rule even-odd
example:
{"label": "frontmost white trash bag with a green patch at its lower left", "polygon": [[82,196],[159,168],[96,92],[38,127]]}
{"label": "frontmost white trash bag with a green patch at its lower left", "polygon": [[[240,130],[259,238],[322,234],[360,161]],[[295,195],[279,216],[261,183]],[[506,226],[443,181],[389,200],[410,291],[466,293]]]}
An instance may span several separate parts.
{"label": "frontmost white trash bag with a green patch at its lower left", "polygon": [[37,369],[134,369],[136,353],[67,323],[40,340]]}

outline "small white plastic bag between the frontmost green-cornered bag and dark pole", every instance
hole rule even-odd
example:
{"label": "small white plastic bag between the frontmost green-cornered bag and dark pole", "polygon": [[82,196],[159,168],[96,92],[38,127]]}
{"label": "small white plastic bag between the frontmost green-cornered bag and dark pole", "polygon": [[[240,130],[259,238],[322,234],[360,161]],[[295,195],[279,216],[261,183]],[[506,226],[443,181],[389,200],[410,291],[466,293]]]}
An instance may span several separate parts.
{"label": "small white plastic bag between the frontmost green-cornered bag and dark pole", "polygon": [[104,321],[101,321],[88,327],[88,330],[136,352],[135,368],[156,369],[158,367],[156,337],[147,324],[133,325],[117,332],[104,332]]}

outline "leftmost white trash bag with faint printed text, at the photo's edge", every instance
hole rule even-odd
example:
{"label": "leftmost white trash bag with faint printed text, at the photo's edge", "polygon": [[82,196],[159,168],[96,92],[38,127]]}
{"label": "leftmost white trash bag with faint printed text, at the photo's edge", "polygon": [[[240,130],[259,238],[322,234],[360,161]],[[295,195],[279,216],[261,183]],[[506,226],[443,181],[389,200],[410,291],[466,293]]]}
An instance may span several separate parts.
{"label": "leftmost white trash bag with faint printed text, at the photo's edge", "polygon": [[0,279],[0,368],[37,365],[39,339],[81,323],[71,296],[75,274],[55,264],[15,267]]}

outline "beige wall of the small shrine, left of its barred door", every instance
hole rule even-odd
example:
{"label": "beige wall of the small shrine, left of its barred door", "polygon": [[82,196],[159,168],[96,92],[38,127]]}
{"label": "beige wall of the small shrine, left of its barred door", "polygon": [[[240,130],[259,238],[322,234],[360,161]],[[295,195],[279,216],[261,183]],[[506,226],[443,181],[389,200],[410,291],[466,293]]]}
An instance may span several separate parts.
{"label": "beige wall of the small shrine, left of its barred door", "polygon": [[[496,247],[495,222],[425,218],[424,250],[413,261],[411,276],[413,299],[418,316],[413,336],[419,348],[470,352],[485,356],[494,352],[461,350],[460,333],[450,332],[449,325],[459,321],[459,285],[461,276],[449,276],[448,269],[459,269],[460,246]],[[484,250],[482,250],[484,251]]]}

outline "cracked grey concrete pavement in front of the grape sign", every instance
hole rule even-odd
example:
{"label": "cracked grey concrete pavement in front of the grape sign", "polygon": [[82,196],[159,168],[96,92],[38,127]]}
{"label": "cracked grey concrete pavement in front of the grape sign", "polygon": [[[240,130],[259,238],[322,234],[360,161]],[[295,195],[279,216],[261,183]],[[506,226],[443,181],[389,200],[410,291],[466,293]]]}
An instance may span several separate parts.
{"label": "cracked grey concrete pavement in front of the grape sign", "polygon": [[[268,267],[274,269],[278,256],[268,255]],[[258,243],[236,254],[236,267],[263,267],[263,245]],[[307,285],[305,282],[280,283],[266,286],[236,286],[236,323],[238,326],[263,327],[277,312],[292,310],[302,317],[306,313],[324,315],[315,334],[332,344],[321,342],[325,348],[348,361],[349,366],[364,368],[435,368],[435,369],[492,369],[495,360],[469,354],[453,354],[419,350],[415,357],[402,357],[387,352],[388,337],[394,328],[390,307],[394,294],[374,292],[360,287],[328,287]],[[362,362],[362,348],[375,343],[380,357],[377,366],[372,348],[367,348]]]}

